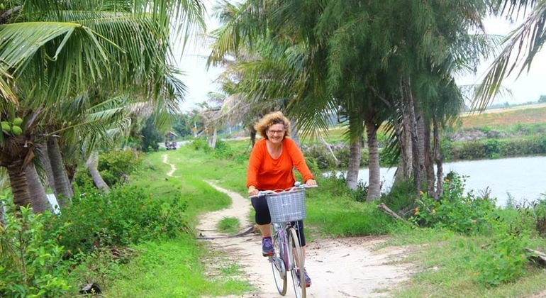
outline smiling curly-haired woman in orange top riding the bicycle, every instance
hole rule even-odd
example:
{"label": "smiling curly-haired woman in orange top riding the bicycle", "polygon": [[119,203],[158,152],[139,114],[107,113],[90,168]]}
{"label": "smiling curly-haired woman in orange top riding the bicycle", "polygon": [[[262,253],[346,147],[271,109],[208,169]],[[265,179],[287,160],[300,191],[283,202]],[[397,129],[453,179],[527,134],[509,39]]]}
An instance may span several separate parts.
{"label": "smiling curly-haired woman in orange top riding the bicycle", "polygon": [[[308,186],[316,185],[313,174],[306,165],[301,150],[288,138],[290,121],[280,111],[264,116],[255,125],[255,129],[263,139],[258,140],[250,158],[247,170],[247,188],[249,196],[256,196],[259,190],[287,189],[296,182],[293,169],[296,167],[303,181]],[[252,198],[252,206],[256,211],[255,220],[262,232],[262,255],[272,256],[274,253],[271,239],[271,216],[265,197]],[[305,235],[303,221],[298,221],[298,236],[305,258]],[[306,287],[311,285],[311,278],[304,270]]]}

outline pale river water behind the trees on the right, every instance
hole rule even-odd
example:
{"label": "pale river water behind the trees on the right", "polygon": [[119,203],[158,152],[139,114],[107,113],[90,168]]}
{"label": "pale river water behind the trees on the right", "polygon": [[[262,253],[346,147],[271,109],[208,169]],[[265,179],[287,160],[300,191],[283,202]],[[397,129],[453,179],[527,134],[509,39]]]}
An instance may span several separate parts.
{"label": "pale river water behind the trees on the right", "polygon": [[[471,160],[444,163],[444,175],[453,171],[468,176],[465,190],[481,194],[489,187],[491,197],[497,198],[498,206],[505,206],[508,194],[516,201],[533,201],[545,198],[546,156],[525,158],[501,158],[496,160]],[[391,188],[396,167],[381,167],[383,190]],[[368,180],[368,169],[361,169],[359,180]]]}

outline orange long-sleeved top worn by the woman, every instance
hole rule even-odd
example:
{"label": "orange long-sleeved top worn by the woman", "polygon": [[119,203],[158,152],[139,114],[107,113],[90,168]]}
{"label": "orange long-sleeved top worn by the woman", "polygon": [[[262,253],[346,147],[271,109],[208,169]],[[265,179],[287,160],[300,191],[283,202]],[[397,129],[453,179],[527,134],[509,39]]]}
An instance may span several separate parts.
{"label": "orange long-sleeved top worn by the woman", "polygon": [[313,179],[301,150],[290,138],[282,141],[282,153],[274,159],[267,151],[266,140],[258,140],[250,158],[247,169],[247,187],[254,185],[259,190],[286,189],[294,186],[294,167],[303,177],[303,182]]}

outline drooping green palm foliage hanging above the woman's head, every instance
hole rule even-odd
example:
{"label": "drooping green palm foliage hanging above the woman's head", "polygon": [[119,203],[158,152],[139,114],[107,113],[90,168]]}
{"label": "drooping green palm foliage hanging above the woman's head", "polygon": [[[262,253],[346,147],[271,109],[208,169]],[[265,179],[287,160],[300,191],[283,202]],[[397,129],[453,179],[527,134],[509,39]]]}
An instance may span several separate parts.
{"label": "drooping green palm foliage hanging above the woman's head", "polygon": [[[245,1],[239,6],[225,2],[225,25],[216,37],[210,63],[231,55],[237,74],[235,92],[255,114],[283,109],[301,127],[303,135],[327,128],[325,106],[334,99],[325,87],[322,45],[314,40],[314,21],[321,13],[316,1]],[[266,17],[267,16],[267,17]],[[313,48],[314,47],[314,48]],[[259,115],[258,115],[259,116]]]}

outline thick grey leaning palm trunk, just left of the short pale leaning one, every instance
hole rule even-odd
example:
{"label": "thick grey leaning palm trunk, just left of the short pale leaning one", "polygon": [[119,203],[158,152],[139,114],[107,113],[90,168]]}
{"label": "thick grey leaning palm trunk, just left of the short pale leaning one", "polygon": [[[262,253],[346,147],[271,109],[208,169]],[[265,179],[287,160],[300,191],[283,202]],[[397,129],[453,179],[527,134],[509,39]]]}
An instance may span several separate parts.
{"label": "thick grey leaning palm trunk, just left of the short pale leaning one", "polygon": [[72,204],[72,185],[68,180],[67,170],[65,169],[65,164],[62,162],[62,155],[59,148],[59,143],[57,142],[57,137],[48,138],[48,156],[51,161],[51,170],[53,172],[53,177],[55,177],[55,188],[59,192],[59,197],[57,201],[59,206],[62,209],[63,206]]}

